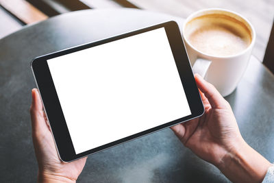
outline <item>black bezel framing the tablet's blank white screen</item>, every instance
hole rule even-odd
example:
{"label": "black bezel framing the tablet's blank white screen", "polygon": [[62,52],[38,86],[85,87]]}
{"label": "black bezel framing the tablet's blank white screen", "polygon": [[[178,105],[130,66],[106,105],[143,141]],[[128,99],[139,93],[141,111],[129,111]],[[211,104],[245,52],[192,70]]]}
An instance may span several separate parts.
{"label": "black bezel framing the tablet's blank white screen", "polygon": [[[153,29],[158,29],[161,27],[164,27],[166,31],[166,36],[169,39],[169,45],[171,46],[175,64],[177,66],[177,70],[178,70],[182,85],[184,87],[184,91],[186,93],[186,98],[188,100],[188,105],[190,107],[191,114],[186,117],[177,119],[175,121],[170,121],[162,125],[158,125],[157,127],[153,127],[149,130],[139,132],[138,134],[132,134],[131,136],[127,136],[125,138],[119,139],[118,141],[101,145],[100,147],[96,147],[94,149],[84,151],[80,154],[75,154],[75,149],[73,147],[71,136],[69,134],[69,129],[66,125],[64,114],[60,106],[60,101],[58,99],[58,95],[56,93],[55,86],[51,78],[51,73],[49,71],[47,60],[51,58],[56,58],[58,56],[66,55],[68,53],[73,53],[75,51],[80,51],[82,49],[88,49],[90,47],[102,45],[107,42],[112,42],[122,38],[127,38],[129,36],[134,36],[136,34],[142,34],[144,32],[148,32]],[[103,149],[108,149],[115,145],[119,145],[121,143],[131,141],[135,138],[139,138],[140,136],[145,136],[147,134],[151,134],[152,132],[157,132],[159,130],[162,130],[166,127],[171,127],[173,125],[176,125],[177,123],[188,121],[189,119],[193,119],[195,117],[201,116],[204,112],[203,103],[201,101],[199,90],[195,83],[195,78],[193,76],[190,63],[188,61],[188,56],[186,53],[186,49],[184,47],[184,42],[179,32],[179,27],[177,23],[175,23],[175,21],[160,23],[158,25],[153,25],[151,27],[138,29],[133,32],[121,34],[119,36],[114,36],[112,38],[106,38],[103,40],[99,40],[97,42],[90,42],[85,45],[80,45],[77,47],[64,49],[62,51],[49,53],[45,56],[34,58],[34,60],[32,60],[31,62],[31,67],[34,74],[34,78],[36,80],[36,85],[38,86],[38,90],[40,92],[40,97],[42,99],[45,112],[47,114],[47,118],[49,120],[51,132],[55,139],[55,145],[58,149],[58,154],[60,156],[60,159],[64,162],[70,162],[72,160],[76,160],[78,158],[88,156],[89,154],[94,154],[95,152],[102,151]]]}

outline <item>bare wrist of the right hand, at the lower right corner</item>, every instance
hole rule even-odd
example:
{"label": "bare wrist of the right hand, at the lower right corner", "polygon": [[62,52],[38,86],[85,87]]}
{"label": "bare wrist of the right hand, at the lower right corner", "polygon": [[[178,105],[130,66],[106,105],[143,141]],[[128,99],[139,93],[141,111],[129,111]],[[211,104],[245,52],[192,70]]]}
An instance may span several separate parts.
{"label": "bare wrist of the right hand, at the lower right corner", "polygon": [[268,160],[242,139],[217,167],[232,182],[262,182],[270,166]]}

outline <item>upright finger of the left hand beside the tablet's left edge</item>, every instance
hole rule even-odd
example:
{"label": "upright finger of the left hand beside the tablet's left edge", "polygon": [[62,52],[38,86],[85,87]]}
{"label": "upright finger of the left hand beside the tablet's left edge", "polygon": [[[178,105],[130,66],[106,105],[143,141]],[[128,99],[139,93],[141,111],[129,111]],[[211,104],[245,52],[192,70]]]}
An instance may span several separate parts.
{"label": "upright finger of the left hand beside the tablet's left edge", "polygon": [[36,88],[32,89],[32,106],[30,113],[32,117],[32,131],[36,133],[45,131],[45,128],[48,127],[44,117],[42,101]]}

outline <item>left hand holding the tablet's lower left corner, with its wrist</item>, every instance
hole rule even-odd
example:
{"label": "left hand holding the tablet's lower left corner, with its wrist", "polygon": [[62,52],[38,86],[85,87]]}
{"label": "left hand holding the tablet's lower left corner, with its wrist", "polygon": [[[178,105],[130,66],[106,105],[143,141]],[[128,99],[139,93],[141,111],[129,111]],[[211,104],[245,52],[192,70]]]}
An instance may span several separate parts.
{"label": "left hand holding the tablet's lower left corner, with its wrist", "polygon": [[38,162],[38,182],[76,182],[86,164],[86,158],[73,162],[60,160],[36,88],[32,89],[30,114],[32,117],[32,139]]}

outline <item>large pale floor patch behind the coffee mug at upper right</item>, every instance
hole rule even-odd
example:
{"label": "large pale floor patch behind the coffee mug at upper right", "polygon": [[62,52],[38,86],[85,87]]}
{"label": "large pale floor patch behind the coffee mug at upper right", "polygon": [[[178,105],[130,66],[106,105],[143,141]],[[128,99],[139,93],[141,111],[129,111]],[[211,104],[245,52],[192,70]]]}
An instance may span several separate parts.
{"label": "large pale floor patch behind the coffee mug at upper right", "polygon": [[264,58],[274,17],[274,0],[129,0],[145,10],[153,10],[186,18],[203,8],[225,8],[245,16],[255,27],[257,40],[253,55]]}

